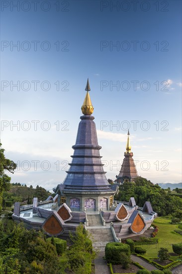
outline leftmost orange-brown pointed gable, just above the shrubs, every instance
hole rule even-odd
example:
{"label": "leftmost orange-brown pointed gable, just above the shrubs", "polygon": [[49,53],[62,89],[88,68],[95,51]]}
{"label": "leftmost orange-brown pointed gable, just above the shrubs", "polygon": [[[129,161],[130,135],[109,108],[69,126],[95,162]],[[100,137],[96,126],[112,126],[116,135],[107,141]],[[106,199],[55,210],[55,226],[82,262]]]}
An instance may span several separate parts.
{"label": "leftmost orange-brown pointed gable, just above the shrubs", "polygon": [[53,211],[42,224],[42,228],[49,236],[58,236],[64,232],[64,221],[56,211]]}

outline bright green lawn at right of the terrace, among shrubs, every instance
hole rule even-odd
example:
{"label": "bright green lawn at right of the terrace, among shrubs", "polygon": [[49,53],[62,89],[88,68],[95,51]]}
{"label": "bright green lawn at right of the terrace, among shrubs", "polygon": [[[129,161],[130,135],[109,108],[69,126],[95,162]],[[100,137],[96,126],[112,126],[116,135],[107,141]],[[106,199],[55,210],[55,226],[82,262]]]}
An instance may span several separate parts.
{"label": "bright green lawn at right of the terrace, among shrubs", "polygon": [[[159,243],[156,245],[142,245],[147,250],[145,257],[157,258],[157,253],[160,248],[167,248],[169,252],[173,252],[172,244],[182,242],[182,236],[175,233],[174,230],[180,230],[178,225],[170,224],[171,220],[164,217],[157,217],[154,220],[154,224],[159,227],[156,238],[159,239]],[[171,257],[173,260],[179,259],[179,256]]]}

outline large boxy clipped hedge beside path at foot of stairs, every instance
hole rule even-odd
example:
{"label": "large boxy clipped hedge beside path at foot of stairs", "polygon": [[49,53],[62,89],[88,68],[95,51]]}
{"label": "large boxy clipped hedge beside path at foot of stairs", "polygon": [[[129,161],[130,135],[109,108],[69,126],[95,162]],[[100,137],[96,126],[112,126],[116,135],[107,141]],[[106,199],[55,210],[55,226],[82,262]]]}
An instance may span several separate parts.
{"label": "large boxy clipped hedge beside path at foot of stairs", "polygon": [[[105,259],[107,263],[119,265],[123,264],[122,266],[125,266],[125,262],[122,261],[121,259],[121,253],[125,254],[126,257],[128,258],[128,262],[130,261],[130,247],[127,244],[122,244],[122,243],[108,243],[105,246]],[[127,261],[127,259],[126,260]],[[126,263],[128,265],[128,263]]]}

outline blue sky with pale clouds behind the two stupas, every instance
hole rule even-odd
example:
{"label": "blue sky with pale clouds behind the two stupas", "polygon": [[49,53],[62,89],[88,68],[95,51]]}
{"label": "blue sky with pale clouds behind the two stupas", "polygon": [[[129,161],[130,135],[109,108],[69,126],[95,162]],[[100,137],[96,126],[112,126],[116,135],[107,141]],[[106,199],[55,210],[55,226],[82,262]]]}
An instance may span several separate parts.
{"label": "blue sky with pale clouds behind the two stupas", "polygon": [[0,138],[19,166],[11,181],[63,182],[89,77],[107,178],[119,173],[130,127],[139,175],[180,182],[181,1],[59,1],[58,11],[55,0],[37,10],[19,1],[19,11],[17,2],[1,1],[0,29]]}

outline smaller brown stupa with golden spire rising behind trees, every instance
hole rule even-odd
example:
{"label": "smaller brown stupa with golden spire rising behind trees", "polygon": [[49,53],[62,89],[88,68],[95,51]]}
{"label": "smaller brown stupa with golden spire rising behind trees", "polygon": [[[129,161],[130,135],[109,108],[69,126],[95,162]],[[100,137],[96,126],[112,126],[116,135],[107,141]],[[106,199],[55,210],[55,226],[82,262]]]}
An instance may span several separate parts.
{"label": "smaller brown stupa with golden spire rising behind trees", "polygon": [[138,173],[136,170],[136,166],[133,160],[133,152],[131,152],[131,144],[129,139],[129,131],[128,131],[128,139],[126,144],[126,151],[124,152],[124,159],[121,165],[121,170],[119,171],[119,175],[116,176],[117,183],[123,183],[124,180],[131,181],[132,179],[138,177]]}

